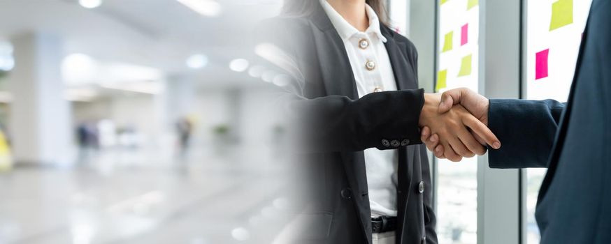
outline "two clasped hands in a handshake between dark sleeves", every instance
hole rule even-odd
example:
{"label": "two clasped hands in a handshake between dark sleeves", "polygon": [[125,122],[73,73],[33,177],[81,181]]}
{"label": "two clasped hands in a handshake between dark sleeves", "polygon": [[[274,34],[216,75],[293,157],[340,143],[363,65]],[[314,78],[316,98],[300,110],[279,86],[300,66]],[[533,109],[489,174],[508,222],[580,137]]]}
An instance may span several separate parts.
{"label": "two clasped hands in a handshake between dark sleeves", "polygon": [[486,153],[486,144],[501,148],[488,128],[489,100],[466,88],[425,93],[420,113],[421,139],[437,158],[453,162]]}

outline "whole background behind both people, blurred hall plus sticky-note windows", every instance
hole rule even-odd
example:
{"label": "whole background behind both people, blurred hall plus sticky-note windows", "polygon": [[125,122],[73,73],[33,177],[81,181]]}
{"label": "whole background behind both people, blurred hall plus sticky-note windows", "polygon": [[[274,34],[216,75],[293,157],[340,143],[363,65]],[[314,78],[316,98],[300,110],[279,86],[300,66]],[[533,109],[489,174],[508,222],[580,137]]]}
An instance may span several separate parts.
{"label": "whole background behind both people, blurred hall plus sticky-note windows", "polygon": [[[561,101],[589,4],[388,0],[426,91]],[[0,243],[272,243],[285,83],[251,35],[281,5],[0,1]],[[545,170],[431,165],[440,243],[538,243]]]}

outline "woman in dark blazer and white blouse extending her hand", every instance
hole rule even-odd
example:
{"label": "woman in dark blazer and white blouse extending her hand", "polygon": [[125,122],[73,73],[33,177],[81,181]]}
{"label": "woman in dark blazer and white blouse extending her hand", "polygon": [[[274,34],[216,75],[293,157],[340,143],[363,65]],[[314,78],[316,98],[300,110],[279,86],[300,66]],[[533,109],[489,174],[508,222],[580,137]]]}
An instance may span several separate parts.
{"label": "woman in dark blazer and white blouse extending her hand", "polygon": [[[355,15],[344,11],[354,4]],[[286,0],[257,31],[261,47],[280,50],[263,56],[293,78],[283,107],[301,132],[300,223],[287,243],[437,243],[421,126],[454,135],[442,142],[453,160],[485,152],[466,127],[496,142],[465,109],[436,112],[440,97],[418,89],[414,45],[384,24],[383,9],[377,0]]]}

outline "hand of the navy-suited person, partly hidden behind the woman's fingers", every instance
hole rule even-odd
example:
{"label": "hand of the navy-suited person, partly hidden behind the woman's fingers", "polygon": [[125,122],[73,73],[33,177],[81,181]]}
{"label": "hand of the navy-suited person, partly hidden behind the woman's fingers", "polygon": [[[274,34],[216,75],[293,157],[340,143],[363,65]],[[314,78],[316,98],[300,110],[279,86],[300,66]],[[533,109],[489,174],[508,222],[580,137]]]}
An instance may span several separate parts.
{"label": "hand of the navy-suited person, partly hidden behind the woman's fingers", "polygon": [[[488,126],[488,109],[489,100],[480,94],[475,93],[466,88],[453,89],[442,94],[440,104],[438,106],[439,113],[451,112],[456,106],[458,109],[466,109],[470,114],[473,114],[485,127]],[[473,128],[471,128],[473,130]],[[488,130],[489,131],[489,130]],[[480,144],[489,144],[492,148],[501,148],[501,142],[492,134],[481,133],[473,130],[473,135]],[[491,136],[490,136],[491,135]],[[422,142],[426,147],[438,158],[454,157],[455,153],[452,148],[448,148],[443,144],[443,135],[438,135],[433,128],[422,128]],[[485,152],[485,151],[484,151]],[[483,153],[482,153],[483,154]]]}

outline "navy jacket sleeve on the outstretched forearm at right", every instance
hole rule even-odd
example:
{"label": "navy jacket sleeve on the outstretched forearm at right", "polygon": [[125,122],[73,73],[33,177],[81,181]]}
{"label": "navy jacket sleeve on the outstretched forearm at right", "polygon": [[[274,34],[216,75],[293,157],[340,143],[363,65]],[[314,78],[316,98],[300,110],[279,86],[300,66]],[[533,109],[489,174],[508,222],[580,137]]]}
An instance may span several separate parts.
{"label": "navy jacket sleeve on the outstretched forearm at right", "polygon": [[566,105],[555,100],[490,100],[488,126],[501,140],[491,168],[547,167]]}

